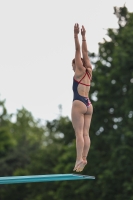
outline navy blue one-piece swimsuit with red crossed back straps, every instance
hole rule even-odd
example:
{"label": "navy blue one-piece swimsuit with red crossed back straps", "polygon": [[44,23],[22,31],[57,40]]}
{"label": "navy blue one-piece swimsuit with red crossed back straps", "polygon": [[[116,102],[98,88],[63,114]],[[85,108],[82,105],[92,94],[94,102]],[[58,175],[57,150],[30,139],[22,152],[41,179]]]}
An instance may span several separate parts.
{"label": "navy blue one-piece swimsuit with red crossed back straps", "polygon": [[81,83],[81,81],[83,80],[83,78],[86,76],[86,74],[88,75],[89,79],[90,79],[90,74],[86,71],[85,75],[81,78],[80,81],[77,81],[73,78],[73,101],[74,100],[79,100],[82,101],[87,107],[89,107],[89,105],[91,104],[90,100],[88,97],[83,97],[81,95],[79,95],[78,93],[78,84],[82,84],[82,85],[86,85],[86,86],[90,86],[84,83]]}

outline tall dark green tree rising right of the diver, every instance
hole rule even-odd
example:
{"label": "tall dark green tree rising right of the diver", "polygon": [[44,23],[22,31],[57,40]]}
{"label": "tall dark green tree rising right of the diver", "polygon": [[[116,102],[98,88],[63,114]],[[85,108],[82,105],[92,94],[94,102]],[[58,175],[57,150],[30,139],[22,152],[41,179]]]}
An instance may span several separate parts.
{"label": "tall dark green tree rising right of the diver", "polygon": [[[114,8],[118,29],[108,29],[110,41],[99,44],[92,82],[95,100],[91,136],[97,164],[100,199],[133,199],[133,13]],[[94,139],[97,137],[97,139]],[[103,164],[104,163],[104,164]],[[95,195],[99,195],[99,189]]]}

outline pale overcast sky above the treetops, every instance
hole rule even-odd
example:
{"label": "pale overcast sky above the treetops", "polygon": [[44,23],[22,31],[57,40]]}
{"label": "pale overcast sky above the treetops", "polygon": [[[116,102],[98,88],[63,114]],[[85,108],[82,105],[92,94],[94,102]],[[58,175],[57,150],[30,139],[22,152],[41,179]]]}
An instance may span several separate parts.
{"label": "pale overcast sky above the treetops", "polygon": [[85,26],[97,53],[107,28],[117,28],[113,7],[125,3],[133,12],[132,0],[0,0],[0,100],[8,113],[24,107],[42,121],[71,118],[74,24]]}

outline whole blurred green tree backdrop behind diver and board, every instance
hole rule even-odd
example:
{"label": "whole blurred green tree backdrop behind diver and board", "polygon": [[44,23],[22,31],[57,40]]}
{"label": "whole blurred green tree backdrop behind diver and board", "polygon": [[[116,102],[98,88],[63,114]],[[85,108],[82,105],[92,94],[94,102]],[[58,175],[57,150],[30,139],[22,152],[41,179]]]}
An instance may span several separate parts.
{"label": "whole blurred green tree backdrop behind diver and board", "polygon": [[[0,200],[133,200],[133,13],[114,8],[118,29],[92,53],[94,106],[90,181],[0,185]],[[25,108],[8,114],[0,101],[0,176],[73,173],[75,135],[68,117],[42,124]],[[12,117],[16,118],[12,122]]]}

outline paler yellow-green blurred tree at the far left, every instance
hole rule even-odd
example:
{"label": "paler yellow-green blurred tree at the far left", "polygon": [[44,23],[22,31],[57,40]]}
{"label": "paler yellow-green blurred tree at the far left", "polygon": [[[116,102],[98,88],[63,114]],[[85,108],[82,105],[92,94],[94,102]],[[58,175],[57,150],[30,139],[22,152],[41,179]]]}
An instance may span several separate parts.
{"label": "paler yellow-green blurred tree at the far left", "polygon": [[[36,163],[31,167],[31,163],[34,162],[34,157],[36,158],[37,154],[42,151],[45,128],[25,108],[17,111],[16,122],[12,123],[4,105],[3,108],[4,114],[1,115],[0,128],[0,142],[2,144],[0,176],[30,175],[32,174],[31,169],[38,166]],[[29,188],[26,184],[23,187],[21,184],[3,185],[0,187],[0,198],[9,199],[14,193],[14,200],[23,199],[27,196],[28,191]]]}

